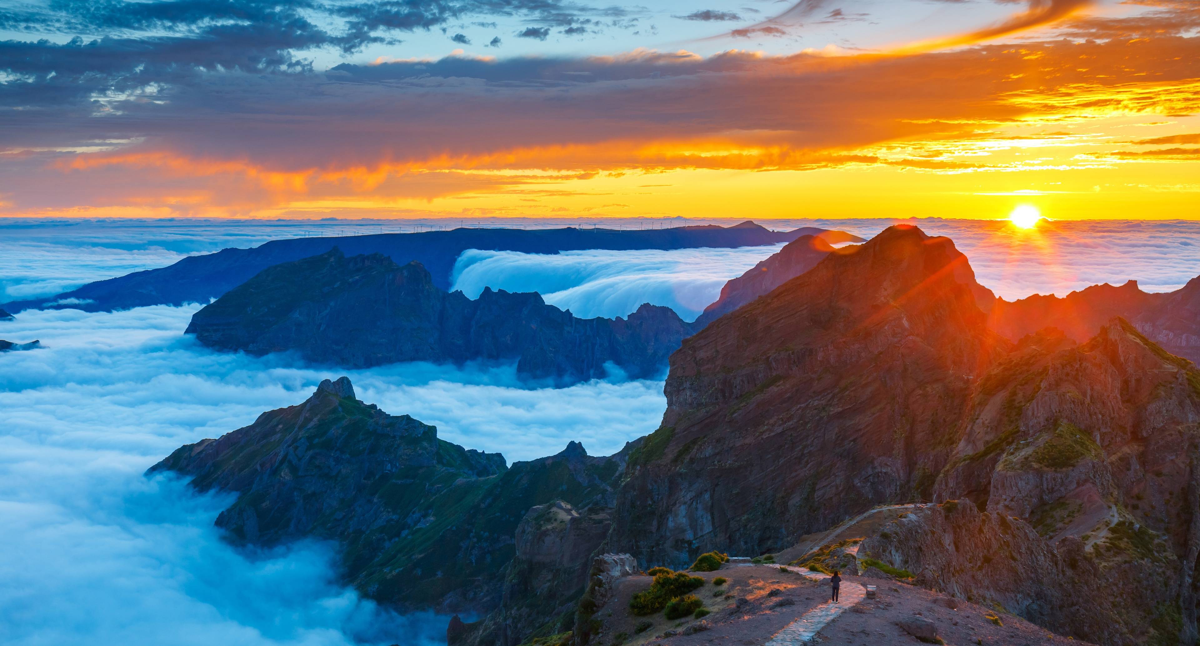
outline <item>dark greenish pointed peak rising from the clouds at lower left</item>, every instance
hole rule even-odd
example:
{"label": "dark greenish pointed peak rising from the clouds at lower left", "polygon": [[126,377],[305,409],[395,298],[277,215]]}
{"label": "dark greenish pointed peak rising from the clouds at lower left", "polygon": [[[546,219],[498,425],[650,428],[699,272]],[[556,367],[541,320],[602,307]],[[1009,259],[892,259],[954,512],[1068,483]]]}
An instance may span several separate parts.
{"label": "dark greenish pointed peak rising from the clouds at lower left", "polygon": [[[184,446],[150,472],[192,476],[202,491],[236,491],[217,518],[234,541],[338,542],[346,580],[374,599],[486,612],[502,600],[530,507],[611,507],[624,463],[623,454],[592,458],[572,442],[505,469],[499,454],[463,449],[433,427],[359,402],[342,378],[304,404]],[[569,542],[564,559],[587,550],[586,535]]]}

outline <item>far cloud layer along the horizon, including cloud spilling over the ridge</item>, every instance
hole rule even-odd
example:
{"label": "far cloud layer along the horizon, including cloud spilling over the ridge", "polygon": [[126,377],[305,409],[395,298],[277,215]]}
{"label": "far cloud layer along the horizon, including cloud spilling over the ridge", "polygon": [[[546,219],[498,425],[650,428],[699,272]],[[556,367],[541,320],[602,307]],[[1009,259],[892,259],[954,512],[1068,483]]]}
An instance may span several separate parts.
{"label": "far cloud layer along the horizon, including cloud spilling over the ridge", "polygon": [[[1003,223],[967,219],[778,219],[762,224],[841,229],[871,237],[895,222],[952,237],[979,280],[1006,298],[1060,296],[1097,283],[1135,279],[1147,291],[1177,289],[1200,274],[1200,223],[1190,221],[1088,221],[1043,223],[1016,234]],[[280,237],[404,233],[455,227],[565,227],[571,218],[430,221],[41,221],[0,218],[0,301],[49,296],[90,280],[174,262],[184,254],[252,247]],[[606,219],[612,228],[736,224],[736,221]],[[468,294],[484,285],[540,291],[547,302],[581,316],[618,316],[642,302],[677,307],[695,318],[721,284],[742,273],[766,247],[713,249],[696,265],[684,252],[578,252],[559,255],[475,253],[456,277]],[[689,249],[685,252],[696,252]],[[761,259],[761,258],[760,258]],[[587,266],[588,261],[595,266]],[[749,262],[746,265],[745,262]],[[740,267],[740,270],[739,270]],[[462,276],[460,276],[460,273]],[[706,301],[707,302],[702,302]],[[636,301],[636,302],[635,302]],[[631,304],[632,303],[632,304]],[[623,312],[624,310],[624,312]]]}

